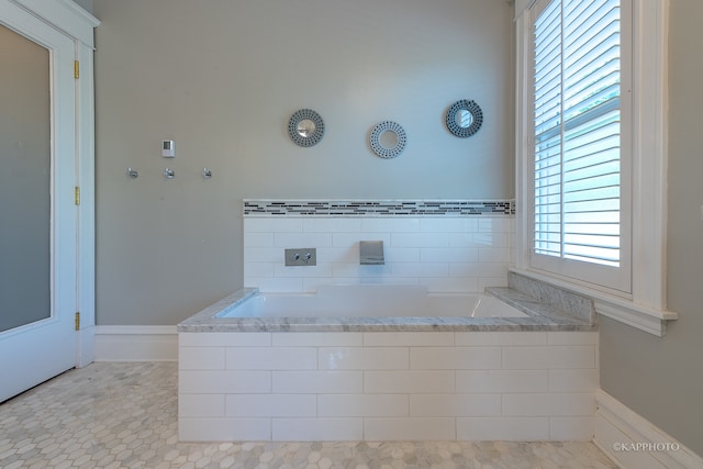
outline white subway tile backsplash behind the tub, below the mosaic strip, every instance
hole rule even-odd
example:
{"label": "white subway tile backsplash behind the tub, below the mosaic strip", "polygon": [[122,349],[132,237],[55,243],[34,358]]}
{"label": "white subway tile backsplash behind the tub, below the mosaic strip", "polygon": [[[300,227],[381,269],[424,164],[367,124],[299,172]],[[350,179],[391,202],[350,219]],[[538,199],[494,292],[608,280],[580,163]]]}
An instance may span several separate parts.
{"label": "white subway tile backsplash behind the tub, below the mosaic strip", "polygon": [[[244,217],[244,287],[314,292],[321,283],[412,283],[431,292],[505,287],[514,216]],[[386,265],[359,265],[359,242],[383,241]],[[286,267],[284,248],[314,247],[317,265]]]}

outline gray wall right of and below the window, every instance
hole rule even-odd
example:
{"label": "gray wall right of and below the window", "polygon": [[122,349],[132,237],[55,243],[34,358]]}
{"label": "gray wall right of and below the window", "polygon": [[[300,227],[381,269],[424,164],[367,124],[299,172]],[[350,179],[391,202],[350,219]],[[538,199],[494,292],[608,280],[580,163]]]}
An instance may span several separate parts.
{"label": "gray wall right of and below the window", "polygon": [[601,386],[703,455],[703,2],[672,0],[669,46],[669,308],[680,319],[657,338],[601,323]]}

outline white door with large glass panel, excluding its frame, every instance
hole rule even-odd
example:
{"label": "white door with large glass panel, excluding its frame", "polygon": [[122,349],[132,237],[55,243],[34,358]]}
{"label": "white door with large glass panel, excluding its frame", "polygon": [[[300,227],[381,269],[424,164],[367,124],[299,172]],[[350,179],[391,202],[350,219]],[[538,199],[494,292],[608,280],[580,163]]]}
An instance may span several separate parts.
{"label": "white door with large glass panel, excluding its frame", "polygon": [[0,402],[76,364],[75,43],[0,12]]}

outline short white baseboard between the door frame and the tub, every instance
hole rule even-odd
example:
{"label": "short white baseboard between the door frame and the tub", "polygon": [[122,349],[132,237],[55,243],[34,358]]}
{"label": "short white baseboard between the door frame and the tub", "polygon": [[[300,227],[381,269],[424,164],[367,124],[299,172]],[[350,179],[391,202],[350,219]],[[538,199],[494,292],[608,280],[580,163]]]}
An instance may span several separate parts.
{"label": "short white baseboard between the door frame and the tub", "polygon": [[94,361],[176,361],[176,326],[96,326]]}

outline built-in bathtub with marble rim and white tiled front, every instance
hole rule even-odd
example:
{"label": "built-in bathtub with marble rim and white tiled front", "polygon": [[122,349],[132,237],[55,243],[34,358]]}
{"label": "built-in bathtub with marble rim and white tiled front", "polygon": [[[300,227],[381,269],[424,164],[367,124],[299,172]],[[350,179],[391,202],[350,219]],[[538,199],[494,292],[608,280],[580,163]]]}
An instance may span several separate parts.
{"label": "built-in bathtub with marble rim and white tiled front", "polygon": [[239,290],[178,331],[181,440],[592,438],[598,333],[576,317],[325,286]]}

